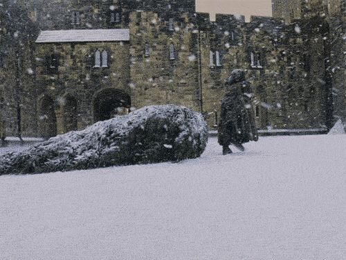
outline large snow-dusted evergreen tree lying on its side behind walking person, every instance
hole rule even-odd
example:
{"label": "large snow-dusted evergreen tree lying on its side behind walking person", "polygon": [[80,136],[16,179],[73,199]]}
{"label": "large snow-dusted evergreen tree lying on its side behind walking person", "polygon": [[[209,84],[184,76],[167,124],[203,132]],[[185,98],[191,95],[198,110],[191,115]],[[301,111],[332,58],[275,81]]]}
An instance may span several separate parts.
{"label": "large snow-dusted evergreen tree lying on its side behind walking person", "polygon": [[155,105],[3,155],[0,175],[176,162],[199,157],[207,141],[201,114],[176,105]]}

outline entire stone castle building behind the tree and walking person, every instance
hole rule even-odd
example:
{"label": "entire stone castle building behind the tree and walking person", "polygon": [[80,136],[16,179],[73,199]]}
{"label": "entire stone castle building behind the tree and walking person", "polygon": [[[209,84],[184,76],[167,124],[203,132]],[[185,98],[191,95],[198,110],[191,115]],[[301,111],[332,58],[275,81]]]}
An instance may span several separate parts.
{"label": "entire stone castle building behind the tree and walking person", "polygon": [[[10,2],[0,12],[6,135],[51,137],[167,103],[202,112],[215,129],[225,80],[238,68],[260,129],[328,129],[345,117],[345,1],[320,9],[273,0],[274,18],[250,22],[210,21],[194,0]],[[20,19],[9,20],[11,8]]]}

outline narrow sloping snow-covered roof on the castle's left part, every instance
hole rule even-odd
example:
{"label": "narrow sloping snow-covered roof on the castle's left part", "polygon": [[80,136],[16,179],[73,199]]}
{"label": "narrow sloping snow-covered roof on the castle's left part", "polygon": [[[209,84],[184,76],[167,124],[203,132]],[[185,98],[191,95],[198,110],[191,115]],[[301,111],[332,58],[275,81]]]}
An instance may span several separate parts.
{"label": "narrow sloping snow-covered roof on the castle's left part", "polygon": [[129,29],[42,31],[37,43],[129,41]]}

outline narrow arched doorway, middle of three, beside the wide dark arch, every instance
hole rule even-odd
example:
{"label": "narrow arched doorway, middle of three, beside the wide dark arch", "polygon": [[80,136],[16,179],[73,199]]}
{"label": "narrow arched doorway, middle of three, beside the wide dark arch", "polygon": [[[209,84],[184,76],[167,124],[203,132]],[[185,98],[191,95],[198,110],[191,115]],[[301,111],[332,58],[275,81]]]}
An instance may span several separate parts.
{"label": "narrow arched doorway, middle of three, beside the wide dark arch", "polygon": [[70,132],[78,129],[78,110],[77,101],[73,96],[66,96],[64,98],[63,119],[64,119],[64,132]]}

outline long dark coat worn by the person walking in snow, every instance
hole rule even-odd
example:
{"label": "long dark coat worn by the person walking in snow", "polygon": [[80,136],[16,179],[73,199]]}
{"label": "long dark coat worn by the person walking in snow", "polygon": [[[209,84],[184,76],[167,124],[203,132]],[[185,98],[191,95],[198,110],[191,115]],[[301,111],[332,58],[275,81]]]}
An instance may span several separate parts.
{"label": "long dark coat worn by the person walking in snow", "polygon": [[221,146],[258,140],[251,97],[242,92],[242,87],[242,82],[233,84],[222,100],[218,135]]}

